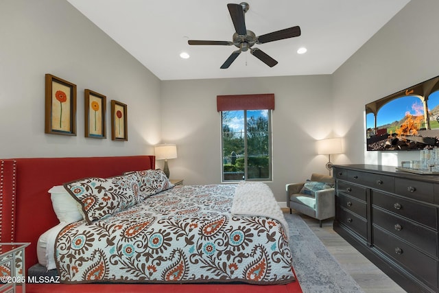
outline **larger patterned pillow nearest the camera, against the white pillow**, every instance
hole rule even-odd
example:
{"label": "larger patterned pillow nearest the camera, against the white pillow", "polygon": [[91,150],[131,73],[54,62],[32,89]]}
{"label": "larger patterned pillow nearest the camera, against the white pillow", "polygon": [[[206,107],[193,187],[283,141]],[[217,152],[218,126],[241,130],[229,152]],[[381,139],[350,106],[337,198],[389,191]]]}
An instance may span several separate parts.
{"label": "larger patterned pillow nearest the camera, against the white pillow", "polygon": [[139,202],[139,185],[134,174],[112,178],[84,178],[64,183],[80,202],[88,224],[132,207]]}

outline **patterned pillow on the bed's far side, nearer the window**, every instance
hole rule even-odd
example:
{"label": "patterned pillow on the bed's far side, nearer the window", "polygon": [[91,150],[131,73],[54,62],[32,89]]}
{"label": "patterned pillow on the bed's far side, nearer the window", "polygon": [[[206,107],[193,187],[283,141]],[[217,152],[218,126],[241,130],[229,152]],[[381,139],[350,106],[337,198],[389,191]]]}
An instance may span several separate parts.
{"label": "patterned pillow on the bed's far side, nearer the window", "polygon": [[161,169],[133,171],[126,174],[135,174],[137,176],[139,200],[144,200],[154,194],[174,187]]}

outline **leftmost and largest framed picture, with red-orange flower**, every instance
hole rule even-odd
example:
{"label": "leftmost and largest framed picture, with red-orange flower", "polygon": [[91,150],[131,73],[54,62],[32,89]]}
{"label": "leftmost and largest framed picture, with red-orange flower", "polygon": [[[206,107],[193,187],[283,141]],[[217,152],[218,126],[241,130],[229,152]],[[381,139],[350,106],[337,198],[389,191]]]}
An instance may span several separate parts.
{"label": "leftmost and largest framed picture, with red-orange flower", "polygon": [[76,84],[45,75],[45,133],[76,135]]}

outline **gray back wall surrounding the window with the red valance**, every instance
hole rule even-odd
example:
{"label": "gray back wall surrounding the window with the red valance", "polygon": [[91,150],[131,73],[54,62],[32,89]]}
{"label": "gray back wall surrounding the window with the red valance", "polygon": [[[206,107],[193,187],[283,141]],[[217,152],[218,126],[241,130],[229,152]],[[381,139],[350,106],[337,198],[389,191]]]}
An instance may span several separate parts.
{"label": "gray back wall surrounding the window with the red valance", "polygon": [[171,178],[185,184],[221,181],[221,117],[217,95],[274,93],[273,180],[276,199],[285,202],[285,184],[311,172],[328,172],[327,156],[317,155],[316,139],[332,133],[331,75],[233,78],[162,82],[162,138],[178,145],[169,160]]}

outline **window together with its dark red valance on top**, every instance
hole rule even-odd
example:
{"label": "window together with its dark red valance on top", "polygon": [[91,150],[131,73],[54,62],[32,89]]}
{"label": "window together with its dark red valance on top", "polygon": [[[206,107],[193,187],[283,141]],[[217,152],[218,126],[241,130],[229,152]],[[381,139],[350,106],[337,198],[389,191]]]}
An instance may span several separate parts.
{"label": "window together with its dark red valance on top", "polygon": [[217,95],[222,181],[272,180],[274,94]]}

